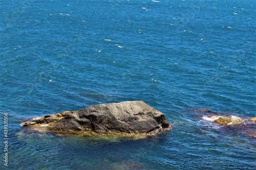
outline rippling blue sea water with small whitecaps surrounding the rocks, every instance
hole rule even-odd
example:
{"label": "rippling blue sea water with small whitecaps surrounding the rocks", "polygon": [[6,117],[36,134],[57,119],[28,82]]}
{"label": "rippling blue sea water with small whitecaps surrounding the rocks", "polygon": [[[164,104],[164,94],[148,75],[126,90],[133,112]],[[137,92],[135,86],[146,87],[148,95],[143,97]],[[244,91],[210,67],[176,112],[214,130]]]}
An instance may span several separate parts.
{"label": "rippling blue sea water with small whitecaps surrounding the rocks", "polygon": [[[256,140],[198,109],[256,116],[256,2],[1,0],[3,169],[255,169]],[[146,139],[27,132],[24,119],[142,100]],[[8,166],[4,165],[8,113]]]}

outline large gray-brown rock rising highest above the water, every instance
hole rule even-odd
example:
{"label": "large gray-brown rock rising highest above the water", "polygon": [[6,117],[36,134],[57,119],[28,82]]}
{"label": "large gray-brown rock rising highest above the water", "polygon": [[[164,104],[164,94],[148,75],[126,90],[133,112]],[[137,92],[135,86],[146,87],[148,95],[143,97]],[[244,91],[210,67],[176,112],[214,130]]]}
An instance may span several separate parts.
{"label": "large gray-brown rock rising highest above the water", "polygon": [[164,115],[143,101],[101,104],[63,111],[20,124],[50,132],[113,132],[157,135],[171,129]]}

